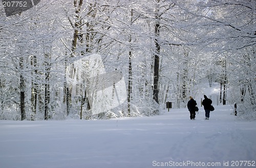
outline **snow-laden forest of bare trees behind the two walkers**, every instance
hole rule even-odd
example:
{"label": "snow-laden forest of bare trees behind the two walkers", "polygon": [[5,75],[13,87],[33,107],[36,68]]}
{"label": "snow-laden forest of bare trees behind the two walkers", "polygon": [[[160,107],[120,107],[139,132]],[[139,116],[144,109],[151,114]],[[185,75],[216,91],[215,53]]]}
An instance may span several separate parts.
{"label": "snow-laden forest of bare trees behind the two walkers", "polygon": [[[255,18],[254,0],[41,0],[8,17],[1,4],[0,119],[152,116],[217,83],[219,104],[256,120]],[[126,89],[121,105],[96,115],[75,66],[92,54]]]}

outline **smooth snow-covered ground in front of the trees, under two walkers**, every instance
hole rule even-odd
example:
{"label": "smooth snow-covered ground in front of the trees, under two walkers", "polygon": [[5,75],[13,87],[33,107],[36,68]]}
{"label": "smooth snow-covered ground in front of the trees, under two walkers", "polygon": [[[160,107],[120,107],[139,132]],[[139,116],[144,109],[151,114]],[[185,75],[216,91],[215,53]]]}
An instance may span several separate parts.
{"label": "smooth snow-covered ground in front of the trees, under two walkers", "polygon": [[237,120],[228,105],[215,108],[210,119],[204,120],[200,107],[194,121],[185,108],[163,110],[154,117],[111,120],[2,120],[0,167],[233,167],[234,161],[253,163],[256,121]]}

